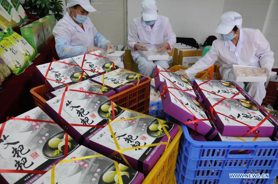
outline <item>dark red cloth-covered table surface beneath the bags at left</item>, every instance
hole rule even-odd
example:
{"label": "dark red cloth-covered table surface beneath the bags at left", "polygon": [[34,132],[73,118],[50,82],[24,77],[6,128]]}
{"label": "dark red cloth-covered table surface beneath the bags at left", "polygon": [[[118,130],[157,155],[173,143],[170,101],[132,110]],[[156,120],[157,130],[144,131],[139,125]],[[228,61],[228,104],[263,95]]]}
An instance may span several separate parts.
{"label": "dark red cloth-covered table surface beneath the bags at left", "polygon": [[22,74],[11,74],[3,81],[4,91],[0,92],[0,123],[6,121],[7,117],[16,117],[36,107],[30,90],[44,84],[44,81],[36,77],[36,66],[51,62],[53,57],[59,59],[54,38],[41,50],[40,55]]}

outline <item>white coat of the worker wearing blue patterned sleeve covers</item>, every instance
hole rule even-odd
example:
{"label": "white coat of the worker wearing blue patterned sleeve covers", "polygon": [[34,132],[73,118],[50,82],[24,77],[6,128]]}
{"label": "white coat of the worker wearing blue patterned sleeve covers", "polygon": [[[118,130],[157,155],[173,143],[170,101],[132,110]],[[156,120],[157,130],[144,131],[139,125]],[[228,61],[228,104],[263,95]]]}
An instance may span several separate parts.
{"label": "white coat of the worker wearing blue patterned sleeve covers", "polygon": [[90,18],[83,23],[84,30],[70,18],[67,12],[53,29],[55,40],[66,39],[71,46],[94,47],[94,35],[97,30]]}

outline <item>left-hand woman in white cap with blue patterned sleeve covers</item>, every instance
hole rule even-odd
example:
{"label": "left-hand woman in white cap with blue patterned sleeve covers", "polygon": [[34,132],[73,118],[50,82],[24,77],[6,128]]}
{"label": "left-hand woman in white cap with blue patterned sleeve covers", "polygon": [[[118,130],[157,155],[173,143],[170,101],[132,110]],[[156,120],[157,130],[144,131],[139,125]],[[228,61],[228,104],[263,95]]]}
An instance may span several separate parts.
{"label": "left-hand woman in white cap with blue patterned sleeve covers", "polygon": [[89,12],[97,11],[89,0],[69,1],[67,8],[70,8],[70,12],[53,29],[56,51],[61,59],[97,50],[114,52],[114,47],[87,17]]}

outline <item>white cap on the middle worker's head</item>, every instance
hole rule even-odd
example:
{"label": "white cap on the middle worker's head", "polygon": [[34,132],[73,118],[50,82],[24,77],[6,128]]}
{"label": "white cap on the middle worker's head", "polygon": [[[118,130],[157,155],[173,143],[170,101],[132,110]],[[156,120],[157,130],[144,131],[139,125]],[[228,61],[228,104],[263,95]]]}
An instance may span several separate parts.
{"label": "white cap on the middle worker's head", "polygon": [[157,19],[157,3],[154,0],[143,0],[141,3],[142,17],[144,21]]}

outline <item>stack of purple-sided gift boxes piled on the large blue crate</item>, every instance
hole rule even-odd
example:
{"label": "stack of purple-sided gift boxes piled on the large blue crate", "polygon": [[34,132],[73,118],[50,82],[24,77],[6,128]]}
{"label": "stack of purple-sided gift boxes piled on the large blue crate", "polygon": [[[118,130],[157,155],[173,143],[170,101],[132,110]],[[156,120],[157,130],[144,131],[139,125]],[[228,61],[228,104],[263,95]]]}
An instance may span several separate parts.
{"label": "stack of purple-sided gift boxes piled on the large blue crate", "polygon": [[235,82],[190,81],[160,66],[154,76],[164,112],[199,133],[193,139],[277,141],[277,120]]}

